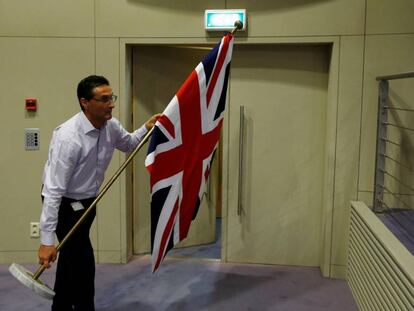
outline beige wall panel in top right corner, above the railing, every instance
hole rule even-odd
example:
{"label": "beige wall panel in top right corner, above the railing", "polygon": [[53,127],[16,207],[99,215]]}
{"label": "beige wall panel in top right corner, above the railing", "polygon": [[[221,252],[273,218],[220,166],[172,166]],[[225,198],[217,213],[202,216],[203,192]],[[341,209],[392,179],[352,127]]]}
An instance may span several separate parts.
{"label": "beige wall panel in top right corner, above the railing", "polygon": [[367,34],[414,32],[414,1],[367,0]]}

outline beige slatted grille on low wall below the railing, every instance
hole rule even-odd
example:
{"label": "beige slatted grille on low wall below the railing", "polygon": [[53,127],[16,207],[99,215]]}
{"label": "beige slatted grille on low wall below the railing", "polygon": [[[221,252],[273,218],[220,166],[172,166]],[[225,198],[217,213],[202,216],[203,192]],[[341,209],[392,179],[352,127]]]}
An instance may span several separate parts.
{"label": "beige slatted grille on low wall below the railing", "polygon": [[414,310],[414,256],[362,202],[351,204],[347,274],[360,310]]}

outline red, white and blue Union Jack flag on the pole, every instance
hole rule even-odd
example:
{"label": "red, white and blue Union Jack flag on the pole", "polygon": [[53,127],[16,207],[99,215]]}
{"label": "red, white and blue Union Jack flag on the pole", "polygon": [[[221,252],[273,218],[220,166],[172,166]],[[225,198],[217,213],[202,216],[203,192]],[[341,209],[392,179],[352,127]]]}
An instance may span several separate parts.
{"label": "red, white and blue Union Jack flag on the pole", "polygon": [[220,138],[233,35],[198,64],[157,120],[145,166],[151,184],[152,271],[187,237]]}

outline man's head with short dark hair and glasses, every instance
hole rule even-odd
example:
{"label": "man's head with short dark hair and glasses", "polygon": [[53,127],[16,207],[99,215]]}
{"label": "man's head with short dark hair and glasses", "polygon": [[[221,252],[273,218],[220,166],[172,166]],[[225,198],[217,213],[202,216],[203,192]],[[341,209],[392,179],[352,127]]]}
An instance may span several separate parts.
{"label": "man's head with short dark hair and glasses", "polygon": [[112,118],[116,96],[105,77],[86,77],[79,82],[77,94],[82,111],[95,127],[101,127]]}

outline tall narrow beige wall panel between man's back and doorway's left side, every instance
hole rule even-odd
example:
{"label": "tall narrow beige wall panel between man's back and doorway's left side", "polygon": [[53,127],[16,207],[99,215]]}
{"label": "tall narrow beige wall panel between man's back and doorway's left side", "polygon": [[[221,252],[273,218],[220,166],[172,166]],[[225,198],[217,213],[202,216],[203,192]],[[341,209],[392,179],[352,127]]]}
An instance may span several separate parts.
{"label": "tall narrow beige wall panel between man's back and doorway's left side", "polygon": [[[107,38],[96,40],[96,73],[105,76],[109,80],[114,94],[119,95],[119,39]],[[113,110],[113,116],[118,120],[121,106],[124,105],[123,100],[123,98],[119,97]],[[105,173],[104,184],[115,174],[120,165],[120,152],[115,151]],[[107,252],[102,253],[102,251],[119,251],[121,249],[122,207],[120,204],[120,182],[122,178],[125,178],[125,176],[121,175],[118,178],[98,204],[96,225],[98,227],[99,262],[103,260],[101,255],[107,254]],[[119,253],[115,257],[119,258]]]}

